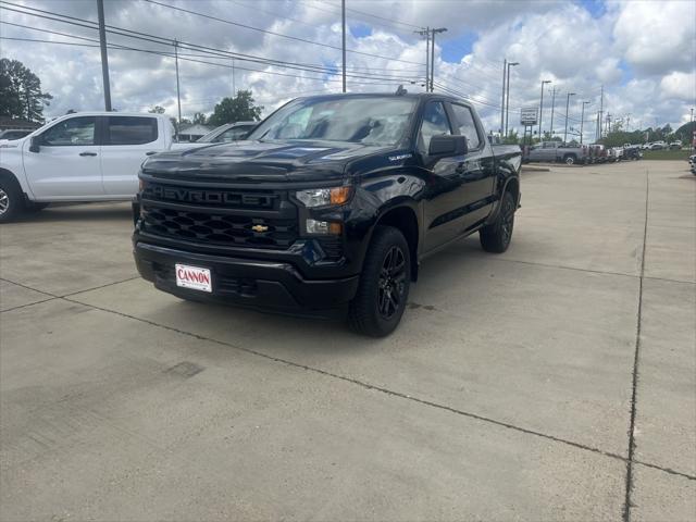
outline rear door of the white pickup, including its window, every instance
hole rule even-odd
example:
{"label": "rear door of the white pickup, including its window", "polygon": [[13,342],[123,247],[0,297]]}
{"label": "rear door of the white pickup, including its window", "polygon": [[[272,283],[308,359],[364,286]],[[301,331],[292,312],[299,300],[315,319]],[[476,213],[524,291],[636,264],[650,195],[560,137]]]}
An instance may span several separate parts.
{"label": "rear door of the white pickup, including its window", "polygon": [[164,149],[163,136],[152,116],[104,116],[101,171],[103,189],[114,198],[138,191],[138,171],[148,156]]}

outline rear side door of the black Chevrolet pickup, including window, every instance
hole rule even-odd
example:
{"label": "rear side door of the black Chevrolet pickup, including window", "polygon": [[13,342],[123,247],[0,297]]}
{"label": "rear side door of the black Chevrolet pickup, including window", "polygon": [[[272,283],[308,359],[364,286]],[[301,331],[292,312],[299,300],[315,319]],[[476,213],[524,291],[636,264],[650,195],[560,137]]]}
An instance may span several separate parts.
{"label": "rear side door of the black Chevrolet pickup, including window", "polygon": [[471,107],[455,102],[449,103],[449,107],[455,134],[467,137],[467,154],[456,158],[462,183],[461,232],[465,232],[481,224],[490,213],[494,202],[495,159],[481,123],[477,122]]}

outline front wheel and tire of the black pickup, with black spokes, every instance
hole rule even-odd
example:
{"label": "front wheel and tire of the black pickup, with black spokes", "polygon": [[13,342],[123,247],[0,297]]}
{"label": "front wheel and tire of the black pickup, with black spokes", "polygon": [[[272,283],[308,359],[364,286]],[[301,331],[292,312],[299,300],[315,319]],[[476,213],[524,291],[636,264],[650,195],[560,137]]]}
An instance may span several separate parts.
{"label": "front wheel and tire of the black pickup, with black spokes", "polygon": [[411,253],[403,234],[377,226],[348,310],[351,328],[371,337],[389,335],[401,321],[410,285]]}

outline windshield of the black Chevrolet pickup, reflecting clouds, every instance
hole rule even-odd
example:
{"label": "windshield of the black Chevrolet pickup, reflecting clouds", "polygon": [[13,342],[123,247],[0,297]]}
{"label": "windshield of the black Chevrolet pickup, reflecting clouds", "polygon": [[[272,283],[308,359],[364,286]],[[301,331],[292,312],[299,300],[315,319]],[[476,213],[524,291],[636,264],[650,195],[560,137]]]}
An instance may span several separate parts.
{"label": "windshield of the black Chevrolet pickup, reflecting clouds", "polygon": [[249,139],[396,145],[414,109],[414,99],[386,96],[300,99],[269,116]]}

